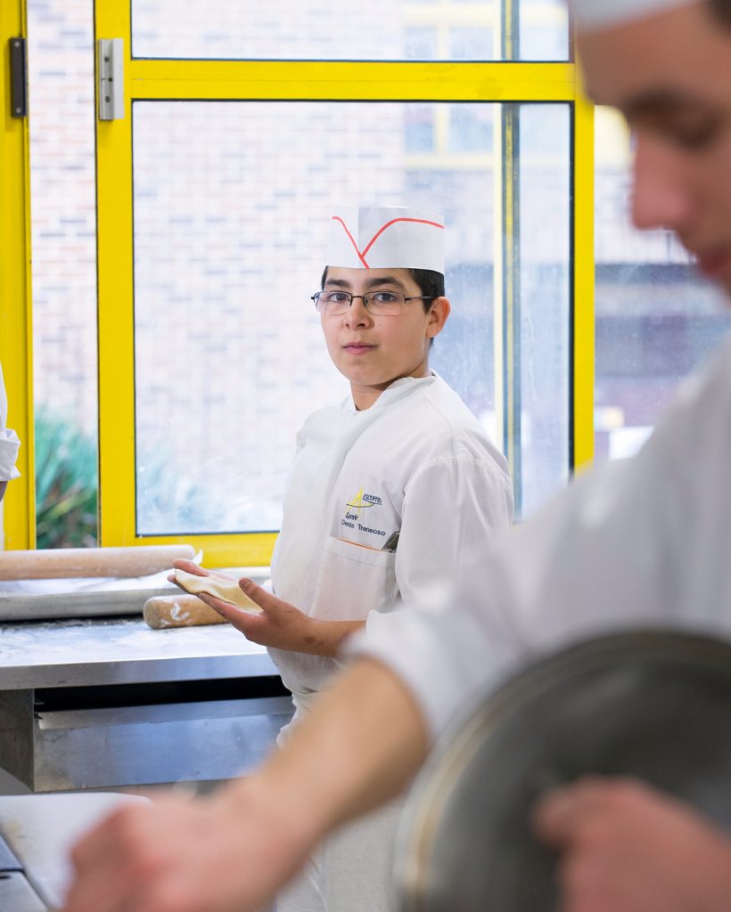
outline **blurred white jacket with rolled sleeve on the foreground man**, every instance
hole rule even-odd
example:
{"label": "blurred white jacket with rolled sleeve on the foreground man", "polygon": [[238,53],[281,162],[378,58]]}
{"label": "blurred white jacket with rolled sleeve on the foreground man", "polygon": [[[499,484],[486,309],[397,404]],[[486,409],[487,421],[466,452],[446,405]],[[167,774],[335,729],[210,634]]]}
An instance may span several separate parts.
{"label": "blurred white jacket with rolled sleeve on the foreground man", "polygon": [[436,737],[532,657],[618,628],[731,637],[731,341],[632,460],[588,472],[444,593],[347,651],[412,690]]}

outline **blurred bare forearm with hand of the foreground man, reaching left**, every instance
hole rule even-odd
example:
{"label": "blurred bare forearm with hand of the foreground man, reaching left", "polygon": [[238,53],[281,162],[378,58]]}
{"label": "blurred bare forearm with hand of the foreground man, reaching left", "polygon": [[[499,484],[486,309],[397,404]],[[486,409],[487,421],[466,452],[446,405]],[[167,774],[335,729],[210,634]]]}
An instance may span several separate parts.
{"label": "blurred bare forearm with hand of the foreground man, reaching left", "polygon": [[340,822],[398,793],[426,753],[392,672],[361,661],[292,741],[211,798],[128,805],[75,848],[65,912],[254,912]]}

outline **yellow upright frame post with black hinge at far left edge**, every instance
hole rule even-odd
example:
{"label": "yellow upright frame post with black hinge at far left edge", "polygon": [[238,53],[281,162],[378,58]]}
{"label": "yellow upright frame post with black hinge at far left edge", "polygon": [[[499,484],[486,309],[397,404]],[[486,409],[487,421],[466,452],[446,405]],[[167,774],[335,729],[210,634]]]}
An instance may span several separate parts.
{"label": "yellow upright frame post with black hinge at far left edge", "polygon": [[28,119],[11,116],[8,85],[8,42],[11,38],[26,35],[24,0],[3,0],[0,3],[0,42],[3,49],[0,72],[0,98],[3,99],[3,135],[0,139],[0,363],[5,375],[8,427],[16,430],[22,443],[17,460],[20,478],[8,485],[3,502],[6,548],[32,548],[36,544]]}

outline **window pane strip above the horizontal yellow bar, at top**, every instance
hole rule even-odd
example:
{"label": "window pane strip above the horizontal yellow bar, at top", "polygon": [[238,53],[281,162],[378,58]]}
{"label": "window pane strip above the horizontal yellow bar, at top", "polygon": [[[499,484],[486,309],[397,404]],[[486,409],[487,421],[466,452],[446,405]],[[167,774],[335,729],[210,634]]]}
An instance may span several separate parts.
{"label": "window pane strip above the horizontal yellow bar, at top", "polygon": [[[500,59],[499,0],[132,0],[135,57],[315,60]],[[565,60],[560,0],[522,0],[514,59]],[[500,47],[499,41],[497,47]]]}

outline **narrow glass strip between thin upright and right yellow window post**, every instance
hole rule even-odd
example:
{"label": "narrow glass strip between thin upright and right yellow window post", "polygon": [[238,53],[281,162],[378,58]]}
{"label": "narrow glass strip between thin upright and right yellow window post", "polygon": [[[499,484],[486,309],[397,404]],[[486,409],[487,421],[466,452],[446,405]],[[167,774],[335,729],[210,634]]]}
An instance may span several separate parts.
{"label": "narrow glass strip between thin upright and right yellow window post", "polygon": [[519,503],[526,517],[569,475],[569,108],[523,105],[519,125]]}

